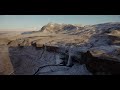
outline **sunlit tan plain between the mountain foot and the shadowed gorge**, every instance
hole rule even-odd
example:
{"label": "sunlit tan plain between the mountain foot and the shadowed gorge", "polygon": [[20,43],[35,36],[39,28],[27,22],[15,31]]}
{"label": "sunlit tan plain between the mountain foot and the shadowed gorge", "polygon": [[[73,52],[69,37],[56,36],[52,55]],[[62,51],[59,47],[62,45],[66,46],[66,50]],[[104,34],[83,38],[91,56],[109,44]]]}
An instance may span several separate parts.
{"label": "sunlit tan plain between the mountain foot and the shadowed gorge", "polygon": [[[0,32],[4,33],[4,32]],[[8,44],[8,42],[17,39],[27,39],[29,42],[35,41],[37,44],[49,45],[69,45],[84,44],[91,35],[67,35],[67,34],[50,34],[50,33],[32,33],[22,34],[22,32],[5,32],[0,35],[0,45]]]}

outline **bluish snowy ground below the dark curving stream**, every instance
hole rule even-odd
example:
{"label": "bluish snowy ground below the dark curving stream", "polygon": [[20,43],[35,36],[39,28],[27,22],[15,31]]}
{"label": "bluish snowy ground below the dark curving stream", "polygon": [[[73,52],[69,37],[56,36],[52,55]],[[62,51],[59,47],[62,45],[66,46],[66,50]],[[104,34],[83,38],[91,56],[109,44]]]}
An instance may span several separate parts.
{"label": "bluish snowy ground below the dark curving stream", "polygon": [[74,64],[72,67],[49,66],[41,69],[38,75],[92,75],[85,65]]}

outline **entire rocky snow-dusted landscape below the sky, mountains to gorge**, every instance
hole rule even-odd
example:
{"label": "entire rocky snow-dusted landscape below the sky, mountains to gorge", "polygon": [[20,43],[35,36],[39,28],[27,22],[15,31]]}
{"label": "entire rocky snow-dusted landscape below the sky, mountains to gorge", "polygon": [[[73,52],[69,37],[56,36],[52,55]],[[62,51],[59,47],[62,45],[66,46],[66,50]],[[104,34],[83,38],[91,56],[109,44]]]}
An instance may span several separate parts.
{"label": "entire rocky snow-dusted landscape below the sky, mountains to gorge", "polygon": [[0,74],[4,75],[119,74],[120,22],[86,26],[48,23],[38,31],[0,32],[0,48],[0,65],[4,64]]}

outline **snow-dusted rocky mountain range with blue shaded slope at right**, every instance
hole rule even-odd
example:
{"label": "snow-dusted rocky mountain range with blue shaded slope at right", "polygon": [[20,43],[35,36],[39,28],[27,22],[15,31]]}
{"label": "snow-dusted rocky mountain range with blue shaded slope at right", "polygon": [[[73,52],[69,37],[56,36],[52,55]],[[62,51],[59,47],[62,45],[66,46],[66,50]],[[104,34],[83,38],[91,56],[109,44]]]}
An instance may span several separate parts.
{"label": "snow-dusted rocky mountain range with blue shaded slope at right", "polygon": [[[95,25],[72,25],[48,23],[43,26],[41,32],[48,33],[66,33],[69,35],[88,36],[87,45],[90,47],[120,45],[120,22],[108,22]],[[117,35],[117,36],[116,36]]]}

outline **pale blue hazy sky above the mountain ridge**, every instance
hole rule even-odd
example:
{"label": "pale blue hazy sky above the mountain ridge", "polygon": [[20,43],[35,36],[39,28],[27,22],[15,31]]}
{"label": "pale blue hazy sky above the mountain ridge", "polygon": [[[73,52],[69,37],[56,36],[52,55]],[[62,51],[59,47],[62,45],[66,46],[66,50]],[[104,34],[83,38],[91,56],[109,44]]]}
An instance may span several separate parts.
{"label": "pale blue hazy sky above the mountain ridge", "polygon": [[49,22],[83,25],[120,22],[120,15],[0,15],[0,29],[38,29]]}

